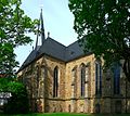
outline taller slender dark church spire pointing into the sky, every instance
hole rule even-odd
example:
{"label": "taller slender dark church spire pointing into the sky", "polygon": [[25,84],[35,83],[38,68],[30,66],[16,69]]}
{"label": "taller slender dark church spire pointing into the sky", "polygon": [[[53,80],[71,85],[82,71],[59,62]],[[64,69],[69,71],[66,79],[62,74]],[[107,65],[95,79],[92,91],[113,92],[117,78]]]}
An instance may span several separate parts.
{"label": "taller slender dark church spire pointing into the sky", "polygon": [[41,25],[41,46],[43,44],[44,40],[46,40],[46,36],[44,36],[44,27],[43,27],[43,16],[42,16],[42,9],[41,9],[41,13],[40,13],[40,25]]}

